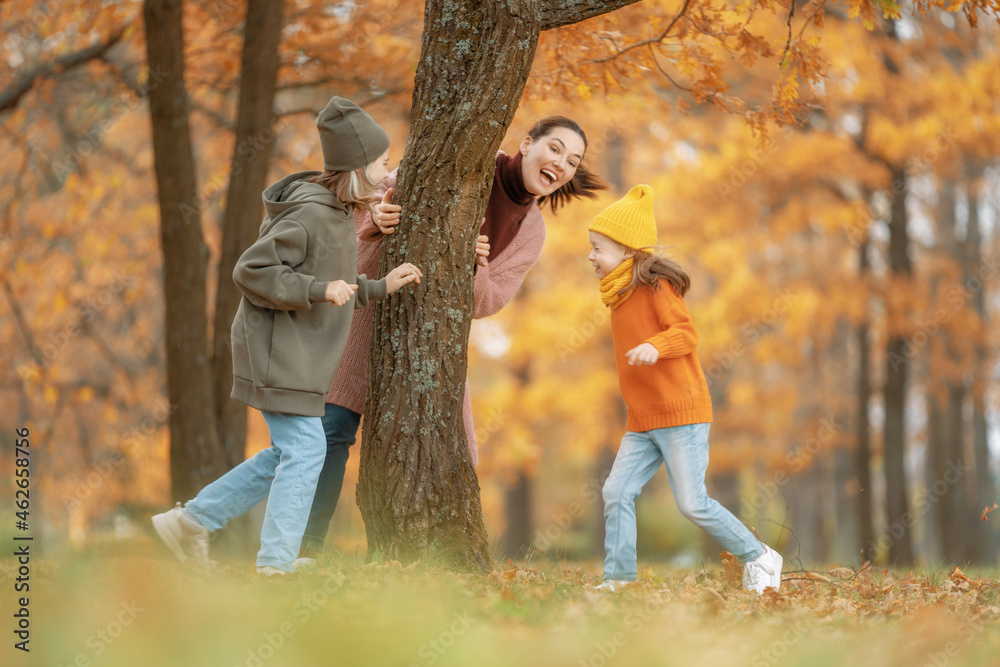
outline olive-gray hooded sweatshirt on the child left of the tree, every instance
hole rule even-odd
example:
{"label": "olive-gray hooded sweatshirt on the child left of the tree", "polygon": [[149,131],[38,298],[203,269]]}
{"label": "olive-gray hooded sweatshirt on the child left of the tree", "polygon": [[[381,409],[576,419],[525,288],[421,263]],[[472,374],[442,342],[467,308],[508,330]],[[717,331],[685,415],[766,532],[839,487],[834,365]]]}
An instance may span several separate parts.
{"label": "olive-gray hooded sweatshirt on the child left of the tree", "polygon": [[[267,217],[240,257],[243,292],[233,320],[233,393],[269,412],[321,417],[344,354],[354,308],[386,295],[385,279],[358,275],[354,216],[300,172],[264,190]],[[357,283],[343,306],[326,301],[335,280]]]}

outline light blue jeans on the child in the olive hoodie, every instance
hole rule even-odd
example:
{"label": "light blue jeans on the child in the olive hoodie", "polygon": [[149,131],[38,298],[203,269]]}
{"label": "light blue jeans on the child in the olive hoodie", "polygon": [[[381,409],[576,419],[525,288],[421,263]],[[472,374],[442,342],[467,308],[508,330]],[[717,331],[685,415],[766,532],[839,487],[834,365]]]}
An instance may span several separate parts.
{"label": "light blue jeans on the child in the olive hoodie", "polygon": [[326,457],[326,436],[320,417],[261,414],[271,433],[271,446],[199,491],[184,510],[216,531],[267,498],[257,567],[270,565],[291,572]]}

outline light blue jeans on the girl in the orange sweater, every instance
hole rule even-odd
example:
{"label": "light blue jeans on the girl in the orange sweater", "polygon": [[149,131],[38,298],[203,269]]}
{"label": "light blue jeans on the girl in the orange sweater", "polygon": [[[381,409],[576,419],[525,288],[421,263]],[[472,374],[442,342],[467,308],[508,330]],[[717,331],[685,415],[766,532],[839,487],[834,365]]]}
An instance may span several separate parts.
{"label": "light blue jeans on the girl in the orange sweater", "polygon": [[622,438],[604,483],[604,578],[635,581],[635,499],[660,463],[667,464],[670,488],[685,517],[715,538],[724,549],[747,563],[764,548],[739,519],[708,497],[708,424],[686,424]]}

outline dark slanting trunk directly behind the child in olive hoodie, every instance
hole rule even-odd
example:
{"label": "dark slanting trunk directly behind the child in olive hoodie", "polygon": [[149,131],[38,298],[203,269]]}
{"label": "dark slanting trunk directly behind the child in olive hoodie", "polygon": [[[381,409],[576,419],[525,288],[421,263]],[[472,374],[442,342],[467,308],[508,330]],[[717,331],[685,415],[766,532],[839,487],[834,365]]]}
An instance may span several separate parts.
{"label": "dark slanting trunk directly behind the child in olive hoodie", "polygon": [[250,0],[247,6],[236,142],[222,218],[212,360],[219,442],[230,467],[243,461],[247,433],[247,407],[229,397],[233,386],[230,328],[240,304],[233,269],[243,251],[257,240],[263,214],[260,193],[267,185],[274,146],[274,93],[283,6],[282,0]]}

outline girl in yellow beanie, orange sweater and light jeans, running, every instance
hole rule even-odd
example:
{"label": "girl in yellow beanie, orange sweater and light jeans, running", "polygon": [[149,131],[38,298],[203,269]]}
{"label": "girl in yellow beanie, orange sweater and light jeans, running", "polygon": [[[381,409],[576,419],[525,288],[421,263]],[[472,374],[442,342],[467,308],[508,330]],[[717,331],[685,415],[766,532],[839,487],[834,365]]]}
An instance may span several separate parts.
{"label": "girl in yellow beanie, orange sweater and light jeans, running", "polygon": [[691,280],[657,254],[653,189],[637,185],[590,224],[590,256],[611,308],[615,363],[628,405],[627,432],[604,483],[602,590],[636,578],[635,500],[666,463],[681,513],[744,563],[743,585],[762,593],[781,585],[781,556],[709,498],[708,429],[712,400],[698,362],[698,331],[684,305]]}

